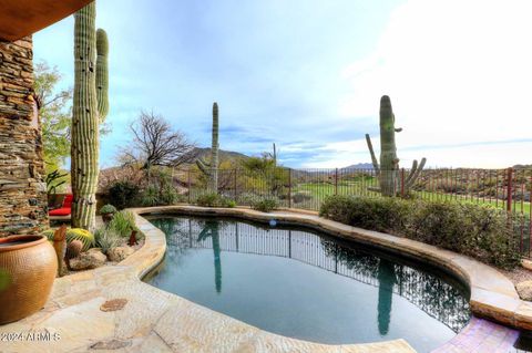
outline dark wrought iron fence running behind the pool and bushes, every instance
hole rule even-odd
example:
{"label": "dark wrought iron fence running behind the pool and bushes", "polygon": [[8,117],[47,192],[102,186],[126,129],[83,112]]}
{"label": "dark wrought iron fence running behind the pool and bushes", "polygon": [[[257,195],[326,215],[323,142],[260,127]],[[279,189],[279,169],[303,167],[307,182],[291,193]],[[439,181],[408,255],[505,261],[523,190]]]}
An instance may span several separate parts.
{"label": "dark wrought iron fence running behind the pool and bushes", "polygon": [[[424,169],[412,187],[406,188],[407,169],[396,173],[396,191],[402,197],[427,200],[482,204],[504,209],[516,225],[520,250],[531,256],[532,247],[532,168]],[[207,193],[207,178],[200,170],[173,170],[174,185],[180,185],[186,200]],[[330,168],[290,169],[277,167],[268,172],[219,169],[218,193],[248,206],[257,197],[276,197],[282,207],[319,210],[331,195],[380,197],[379,180],[374,169]]]}

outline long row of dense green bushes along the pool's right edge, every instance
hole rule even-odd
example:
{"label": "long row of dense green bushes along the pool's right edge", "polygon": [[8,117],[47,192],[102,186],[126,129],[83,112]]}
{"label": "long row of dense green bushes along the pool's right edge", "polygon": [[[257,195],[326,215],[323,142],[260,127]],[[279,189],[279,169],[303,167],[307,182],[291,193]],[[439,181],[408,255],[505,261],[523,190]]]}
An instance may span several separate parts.
{"label": "long row of dense green bushes along the pool's right edge", "polygon": [[519,237],[505,211],[485,205],[330,196],[320,216],[460,252],[501,268],[519,264]]}

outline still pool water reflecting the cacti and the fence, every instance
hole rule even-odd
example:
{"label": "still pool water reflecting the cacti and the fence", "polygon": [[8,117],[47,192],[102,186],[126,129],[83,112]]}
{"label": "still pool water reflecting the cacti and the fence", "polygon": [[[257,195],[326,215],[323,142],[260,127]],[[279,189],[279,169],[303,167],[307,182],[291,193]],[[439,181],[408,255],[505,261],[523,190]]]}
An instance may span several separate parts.
{"label": "still pool water reflecting the cacti and the fence", "polygon": [[146,282],[269,332],[328,344],[406,339],[428,352],[470,319],[460,282],[375,249],[306,228],[149,219],[167,251]]}

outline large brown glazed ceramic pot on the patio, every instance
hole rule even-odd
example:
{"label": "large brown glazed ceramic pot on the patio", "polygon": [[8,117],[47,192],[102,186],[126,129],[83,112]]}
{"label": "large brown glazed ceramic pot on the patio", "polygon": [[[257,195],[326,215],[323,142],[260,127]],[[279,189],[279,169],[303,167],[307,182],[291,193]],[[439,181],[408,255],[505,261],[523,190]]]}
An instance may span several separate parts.
{"label": "large brown glazed ceramic pot on the patio", "polygon": [[0,238],[0,324],[44,307],[57,271],[55,250],[45,237]]}

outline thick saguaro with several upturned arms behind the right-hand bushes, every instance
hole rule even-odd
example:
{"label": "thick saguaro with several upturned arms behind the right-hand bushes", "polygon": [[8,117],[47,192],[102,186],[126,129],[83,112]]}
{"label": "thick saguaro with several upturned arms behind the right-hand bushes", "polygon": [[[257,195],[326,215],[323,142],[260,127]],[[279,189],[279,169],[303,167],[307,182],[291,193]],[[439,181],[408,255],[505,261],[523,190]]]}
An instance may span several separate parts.
{"label": "thick saguaro with several upturned arms behind the right-hand bushes", "polygon": [[[379,188],[377,190],[380,191],[382,196],[396,196],[401,186],[401,179],[399,178],[399,158],[397,157],[396,147],[396,133],[400,133],[401,131],[402,128],[396,128],[396,116],[391,108],[390,97],[383,95],[380,98],[380,165],[375,156],[371,138],[366,134],[371,163],[379,179]],[[422,158],[419,165],[418,160],[413,160],[409,175],[402,180],[405,193],[411,189],[426,163],[426,158]]]}

